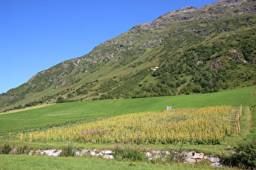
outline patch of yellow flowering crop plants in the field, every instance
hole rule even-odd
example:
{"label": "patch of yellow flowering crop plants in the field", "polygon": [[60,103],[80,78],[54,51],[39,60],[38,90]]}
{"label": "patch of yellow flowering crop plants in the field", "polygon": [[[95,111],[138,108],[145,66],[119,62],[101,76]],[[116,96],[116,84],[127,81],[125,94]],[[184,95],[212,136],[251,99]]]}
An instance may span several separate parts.
{"label": "patch of yellow flowering crop plants in the field", "polygon": [[230,109],[218,106],[133,113],[23,134],[20,140],[218,144],[231,133],[227,121]]}

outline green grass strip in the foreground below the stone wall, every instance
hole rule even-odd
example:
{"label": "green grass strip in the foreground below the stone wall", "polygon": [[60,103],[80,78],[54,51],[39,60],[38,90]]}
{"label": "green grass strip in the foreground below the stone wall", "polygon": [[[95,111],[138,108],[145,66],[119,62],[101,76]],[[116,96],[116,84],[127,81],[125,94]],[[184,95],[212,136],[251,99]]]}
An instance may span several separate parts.
{"label": "green grass strip in the foreground below the stone wall", "polygon": [[201,164],[150,164],[85,157],[53,157],[29,155],[0,155],[0,169],[230,169]]}

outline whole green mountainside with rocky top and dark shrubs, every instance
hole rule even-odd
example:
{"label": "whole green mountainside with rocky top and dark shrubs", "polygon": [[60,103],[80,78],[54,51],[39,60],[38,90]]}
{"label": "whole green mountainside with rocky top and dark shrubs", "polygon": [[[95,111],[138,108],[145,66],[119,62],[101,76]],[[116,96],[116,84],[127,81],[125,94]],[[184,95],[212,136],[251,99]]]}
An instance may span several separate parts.
{"label": "whole green mountainside with rocky top and dark shrubs", "polygon": [[[184,7],[43,70],[0,111],[43,103],[209,93],[255,84],[254,0]],[[156,67],[157,66],[157,67]]]}

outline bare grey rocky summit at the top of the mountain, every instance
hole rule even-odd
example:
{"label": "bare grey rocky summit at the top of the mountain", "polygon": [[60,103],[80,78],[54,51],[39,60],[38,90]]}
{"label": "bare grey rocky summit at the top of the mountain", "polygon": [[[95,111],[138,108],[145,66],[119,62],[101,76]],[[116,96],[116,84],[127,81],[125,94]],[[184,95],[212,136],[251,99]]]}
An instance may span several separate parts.
{"label": "bare grey rocky summit at the top of the mountain", "polygon": [[[152,23],[143,23],[141,28],[156,30],[161,27],[169,27],[174,22],[186,22],[191,19],[219,19],[227,15],[255,12],[256,6],[247,6],[252,2],[255,2],[255,0],[221,0],[202,8],[186,6],[176,11],[167,12],[167,14],[159,16]],[[237,10],[233,10],[236,8]],[[227,11],[232,14],[228,14]]]}

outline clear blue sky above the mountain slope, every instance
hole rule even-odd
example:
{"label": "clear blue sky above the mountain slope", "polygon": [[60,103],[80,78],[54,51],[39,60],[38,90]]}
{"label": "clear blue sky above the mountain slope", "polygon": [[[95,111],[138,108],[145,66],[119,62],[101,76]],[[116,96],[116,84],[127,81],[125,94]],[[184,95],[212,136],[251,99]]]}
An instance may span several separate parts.
{"label": "clear blue sky above the mountain slope", "polygon": [[0,93],[137,24],[217,0],[0,0]]}

